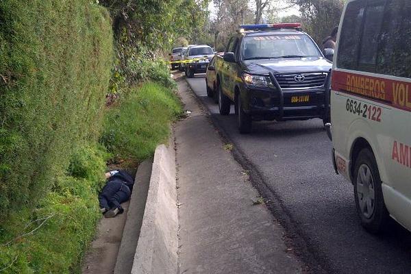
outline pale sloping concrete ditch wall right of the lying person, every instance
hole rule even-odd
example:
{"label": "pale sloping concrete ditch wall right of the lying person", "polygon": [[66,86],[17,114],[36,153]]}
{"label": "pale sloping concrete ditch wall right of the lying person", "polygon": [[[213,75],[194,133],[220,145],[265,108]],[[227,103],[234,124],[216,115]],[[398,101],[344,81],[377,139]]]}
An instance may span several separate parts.
{"label": "pale sloping concrete ditch wall right of the lying person", "polygon": [[155,149],[153,169],[132,274],[177,273],[175,150]]}

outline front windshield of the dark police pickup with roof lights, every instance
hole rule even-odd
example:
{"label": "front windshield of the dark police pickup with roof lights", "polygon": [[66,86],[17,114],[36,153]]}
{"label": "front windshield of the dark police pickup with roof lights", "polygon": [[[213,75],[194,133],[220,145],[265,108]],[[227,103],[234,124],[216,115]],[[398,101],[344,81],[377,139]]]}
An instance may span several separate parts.
{"label": "front windshield of the dark police pickup with roof lights", "polygon": [[321,52],[305,34],[250,36],[244,39],[243,60],[320,57]]}

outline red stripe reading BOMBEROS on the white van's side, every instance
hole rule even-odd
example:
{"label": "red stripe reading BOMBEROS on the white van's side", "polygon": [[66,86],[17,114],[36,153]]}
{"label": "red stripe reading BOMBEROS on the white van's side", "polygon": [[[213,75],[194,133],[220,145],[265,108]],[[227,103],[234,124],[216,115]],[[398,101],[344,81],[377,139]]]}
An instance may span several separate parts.
{"label": "red stripe reading BOMBEROS on the white van's side", "polygon": [[332,90],[411,112],[411,83],[408,82],[333,71]]}

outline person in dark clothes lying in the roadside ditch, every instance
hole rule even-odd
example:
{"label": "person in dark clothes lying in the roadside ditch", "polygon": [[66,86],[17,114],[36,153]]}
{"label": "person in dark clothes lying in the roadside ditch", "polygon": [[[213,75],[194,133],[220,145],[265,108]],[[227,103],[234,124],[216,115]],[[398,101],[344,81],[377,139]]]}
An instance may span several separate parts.
{"label": "person in dark clothes lying in the roadside ditch", "polygon": [[134,179],[125,171],[110,171],[105,178],[108,181],[99,194],[100,211],[106,218],[112,218],[123,213],[121,203],[132,195]]}

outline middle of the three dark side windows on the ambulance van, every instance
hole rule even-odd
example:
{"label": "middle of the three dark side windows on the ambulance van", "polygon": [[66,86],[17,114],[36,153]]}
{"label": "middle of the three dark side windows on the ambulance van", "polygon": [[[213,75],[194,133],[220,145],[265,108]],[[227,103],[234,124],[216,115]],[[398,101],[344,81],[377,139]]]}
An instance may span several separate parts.
{"label": "middle of the three dark side windows on the ambulance van", "polygon": [[379,34],[384,18],[384,5],[385,1],[377,1],[366,7],[358,60],[358,70],[360,71],[375,72]]}

